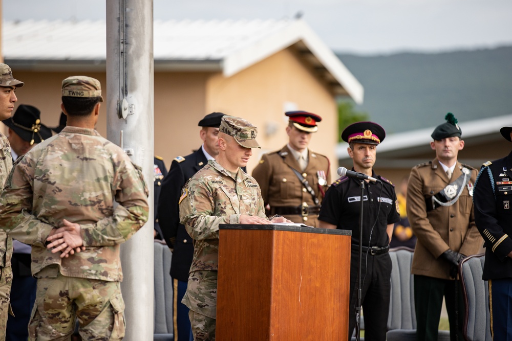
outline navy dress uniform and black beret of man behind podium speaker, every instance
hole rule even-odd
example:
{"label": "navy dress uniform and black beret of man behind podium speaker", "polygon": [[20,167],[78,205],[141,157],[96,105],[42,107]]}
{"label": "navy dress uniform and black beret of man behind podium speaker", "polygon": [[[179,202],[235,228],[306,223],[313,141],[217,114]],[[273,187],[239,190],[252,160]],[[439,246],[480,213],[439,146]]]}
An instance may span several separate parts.
{"label": "navy dress uniform and black beret of man behind podium speaker", "polygon": [[[212,112],[199,121],[200,127],[216,127],[221,124],[222,112]],[[183,340],[191,337],[188,308],[181,303],[187,289],[188,272],[194,256],[192,238],[185,226],[180,224],[179,199],[186,181],[208,164],[200,147],[197,151],[174,158],[168,174],[164,177],[158,202],[158,220],[164,241],[173,251],[170,276],[174,279],[175,335]],[[175,336],[176,337],[176,336]]]}

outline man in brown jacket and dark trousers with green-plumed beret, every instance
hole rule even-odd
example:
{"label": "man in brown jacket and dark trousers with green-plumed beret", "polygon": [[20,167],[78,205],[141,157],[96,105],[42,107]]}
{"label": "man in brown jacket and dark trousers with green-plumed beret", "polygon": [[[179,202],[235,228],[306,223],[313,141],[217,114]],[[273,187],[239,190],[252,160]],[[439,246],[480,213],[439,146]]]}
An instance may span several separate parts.
{"label": "man in brown jacket and dark trousers with green-plumed beret", "polygon": [[[431,135],[434,147],[439,142],[449,143],[446,140],[450,138],[460,143],[462,131],[457,120],[451,113],[445,119]],[[463,339],[464,304],[460,283],[455,280],[457,266],[465,256],[477,254],[483,244],[473,211],[477,170],[457,161],[458,149],[452,153],[443,156],[436,149],[436,158],[413,167],[409,177],[407,216],[417,237],[411,273],[420,341],[437,340],[443,297],[450,337]],[[441,159],[454,162],[451,177]]]}

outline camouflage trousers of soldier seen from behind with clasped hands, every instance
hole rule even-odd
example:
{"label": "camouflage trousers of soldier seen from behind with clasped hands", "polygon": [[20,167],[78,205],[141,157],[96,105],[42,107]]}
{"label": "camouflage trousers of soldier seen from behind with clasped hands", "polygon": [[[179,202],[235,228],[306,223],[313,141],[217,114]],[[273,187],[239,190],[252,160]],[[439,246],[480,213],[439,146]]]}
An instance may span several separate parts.
{"label": "camouflage trousers of soldier seen from behind with clasped hands", "polygon": [[69,340],[78,319],[82,340],[121,340],[124,301],[119,282],[65,277],[37,279],[30,340]]}

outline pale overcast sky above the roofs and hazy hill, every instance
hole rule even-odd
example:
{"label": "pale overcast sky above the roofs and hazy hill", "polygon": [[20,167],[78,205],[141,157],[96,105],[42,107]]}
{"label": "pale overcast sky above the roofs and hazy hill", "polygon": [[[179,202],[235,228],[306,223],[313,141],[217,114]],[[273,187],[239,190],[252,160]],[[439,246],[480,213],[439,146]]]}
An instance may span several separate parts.
{"label": "pale overcast sky above the roofs and hazy hill", "polygon": [[[2,1],[4,20],[105,19],[105,0]],[[154,0],[154,18],[162,20],[281,19],[298,12],[335,52],[512,45],[512,0]]]}

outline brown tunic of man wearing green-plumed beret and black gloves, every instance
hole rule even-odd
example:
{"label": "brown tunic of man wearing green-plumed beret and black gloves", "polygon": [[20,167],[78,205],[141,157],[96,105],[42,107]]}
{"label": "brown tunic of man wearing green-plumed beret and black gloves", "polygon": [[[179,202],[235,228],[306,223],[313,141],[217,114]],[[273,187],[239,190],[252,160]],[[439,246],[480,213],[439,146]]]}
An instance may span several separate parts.
{"label": "brown tunic of man wearing green-plumed beret and black gloves", "polygon": [[[427,212],[425,199],[461,176],[463,168],[471,171],[471,179],[458,200],[452,206],[440,206]],[[449,248],[465,256],[479,252],[483,239],[476,228],[473,211],[472,186],[476,177],[475,168],[457,162],[450,180],[437,158],[412,169],[407,190],[407,216],[418,237],[411,269],[413,275],[453,279],[450,265],[439,256]]]}

